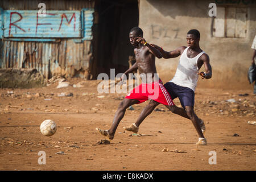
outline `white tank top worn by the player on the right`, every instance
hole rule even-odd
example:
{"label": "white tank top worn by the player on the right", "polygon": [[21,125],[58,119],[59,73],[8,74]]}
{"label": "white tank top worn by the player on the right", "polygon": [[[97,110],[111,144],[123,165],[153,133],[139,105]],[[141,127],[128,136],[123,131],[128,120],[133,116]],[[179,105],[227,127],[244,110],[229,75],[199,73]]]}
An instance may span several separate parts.
{"label": "white tank top worn by the player on the right", "polygon": [[197,56],[189,58],[187,56],[187,47],[180,56],[180,62],[177,66],[176,73],[172,80],[169,82],[174,82],[176,85],[184,86],[192,89],[194,92],[196,90],[197,80],[199,75],[197,75],[199,69],[197,67],[197,60],[204,51],[200,52]]}

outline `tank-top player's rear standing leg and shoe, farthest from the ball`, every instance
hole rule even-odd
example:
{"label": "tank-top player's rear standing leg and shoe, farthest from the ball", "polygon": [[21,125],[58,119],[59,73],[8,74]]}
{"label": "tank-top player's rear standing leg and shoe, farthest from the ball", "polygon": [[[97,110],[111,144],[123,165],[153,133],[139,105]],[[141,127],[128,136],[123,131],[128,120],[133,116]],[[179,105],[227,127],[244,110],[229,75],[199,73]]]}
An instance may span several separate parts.
{"label": "tank-top player's rear standing leg and shoe, farthest from the ball", "polygon": [[191,121],[197,131],[197,134],[199,135],[199,141],[196,143],[197,145],[206,145],[207,140],[204,138],[204,134],[201,131],[200,128],[200,120],[196,116],[195,111],[193,110],[192,106],[185,106],[185,110],[187,111],[187,115],[191,118]]}

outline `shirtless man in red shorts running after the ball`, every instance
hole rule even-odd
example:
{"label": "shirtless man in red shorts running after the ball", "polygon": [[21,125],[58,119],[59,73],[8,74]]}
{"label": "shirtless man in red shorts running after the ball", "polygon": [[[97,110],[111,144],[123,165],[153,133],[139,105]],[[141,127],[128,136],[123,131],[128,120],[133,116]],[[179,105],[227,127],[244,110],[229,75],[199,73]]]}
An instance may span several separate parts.
{"label": "shirtless man in red shorts running after the ball", "polygon": [[[139,73],[146,77],[144,82],[142,79],[142,84],[133,89],[119,104],[110,129],[101,130],[96,128],[96,131],[108,139],[114,138],[115,131],[117,130],[119,122],[125,115],[126,109],[131,105],[140,104],[148,99],[154,100],[155,103],[166,105],[175,113],[188,117],[184,109],[174,105],[170,94],[168,94],[167,90],[164,88],[162,81],[156,77],[155,57],[158,57],[159,59],[162,58],[162,53],[157,48],[150,46],[150,44],[146,42],[146,40],[143,38],[143,32],[139,27],[134,27],[131,29],[130,43],[134,47],[136,63],[134,63],[130,69],[123,73],[121,81],[128,73],[131,73],[136,69],[139,69]],[[151,87],[154,92],[149,92],[148,87]],[[146,93],[143,92],[143,89],[146,91]],[[136,125],[132,125],[132,127],[134,131],[138,129]]]}

